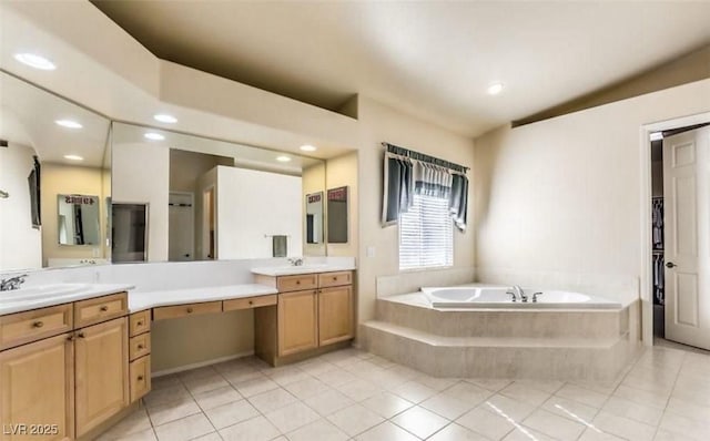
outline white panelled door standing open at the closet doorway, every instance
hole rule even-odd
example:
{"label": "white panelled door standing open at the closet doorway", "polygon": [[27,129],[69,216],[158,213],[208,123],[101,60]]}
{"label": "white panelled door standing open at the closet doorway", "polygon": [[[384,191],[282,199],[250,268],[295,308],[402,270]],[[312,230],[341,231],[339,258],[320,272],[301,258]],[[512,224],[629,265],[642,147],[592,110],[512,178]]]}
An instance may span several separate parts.
{"label": "white panelled door standing open at the closet doorway", "polygon": [[710,127],[663,140],[666,338],[710,349]]}

